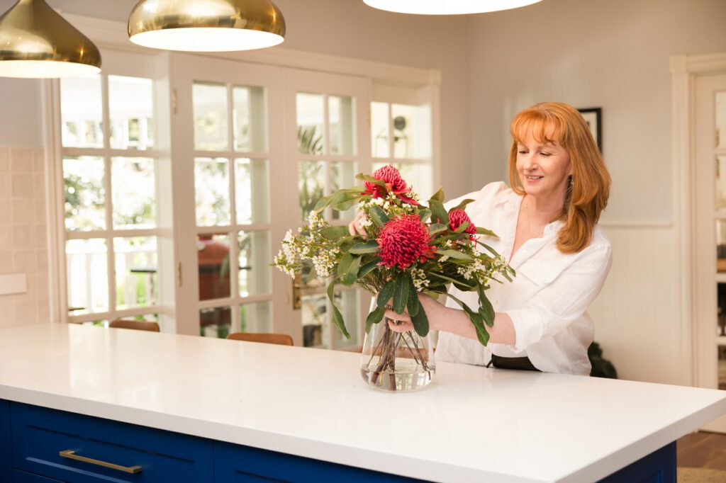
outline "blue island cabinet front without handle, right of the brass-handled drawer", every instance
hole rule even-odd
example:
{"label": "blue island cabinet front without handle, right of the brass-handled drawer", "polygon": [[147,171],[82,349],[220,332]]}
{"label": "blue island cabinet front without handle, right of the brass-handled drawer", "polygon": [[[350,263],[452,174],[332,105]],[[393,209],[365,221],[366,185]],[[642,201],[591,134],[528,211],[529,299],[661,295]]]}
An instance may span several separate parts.
{"label": "blue island cabinet front without handle, right of the brass-handled drawer", "polygon": [[412,483],[421,481],[405,476],[223,442],[214,443],[214,475],[216,483]]}

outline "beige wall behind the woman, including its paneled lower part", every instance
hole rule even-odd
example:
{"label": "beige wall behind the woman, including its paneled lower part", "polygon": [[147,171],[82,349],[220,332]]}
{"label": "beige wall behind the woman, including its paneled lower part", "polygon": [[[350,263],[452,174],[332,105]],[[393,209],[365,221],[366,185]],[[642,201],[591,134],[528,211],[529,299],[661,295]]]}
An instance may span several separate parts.
{"label": "beige wall behind the woman, including its paneled lower part", "polygon": [[[544,0],[470,24],[473,183],[505,177],[508,123],[546,100],[603,108],[613,268],[590,309],[624,379],[690,384],[673,214],[669,57],[726,51],[723,0]],[[714,311],[716,307],[714,307]]]}

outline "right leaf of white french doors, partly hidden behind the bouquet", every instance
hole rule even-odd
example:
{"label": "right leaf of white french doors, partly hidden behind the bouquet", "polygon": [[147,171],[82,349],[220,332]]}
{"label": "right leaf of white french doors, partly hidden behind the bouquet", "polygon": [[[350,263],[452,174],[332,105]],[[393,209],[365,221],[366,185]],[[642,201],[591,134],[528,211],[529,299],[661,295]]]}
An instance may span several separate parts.
{"label": "right leaf of white french doors, partly hidden behind the bouquet", "polygon": [[[288,205],[286,223],[294,230],[305,223],[320,198],[356,184],[356,173],[371,172],[370,80],[294,69],[283,72],[286,191],[296,195]],[[354,215],[355,207],[322,213],[333,225],[347,225]],[[326,284],[322,279],[293,281],[294,319],[302,326],[302,344],[356,350],[362,345],[361,321],[370,296],[359,289],[335,289],[335,304],[351,334],[345,339],[333,325]]]}

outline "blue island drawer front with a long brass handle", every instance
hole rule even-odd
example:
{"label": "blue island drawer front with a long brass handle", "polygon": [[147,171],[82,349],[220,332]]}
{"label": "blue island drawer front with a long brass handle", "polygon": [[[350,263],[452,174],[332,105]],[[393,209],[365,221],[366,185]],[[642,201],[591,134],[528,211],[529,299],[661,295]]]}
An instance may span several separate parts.
{"label": "blue island drawer front with a long brass handle", "polygon": [[[10,410],[16,469],[69,483],[208,483],[214,479],[209,439],[17,402],[11,403]],[[73,453],[60,454],[67,451]],[[134,467],[135,473],[126,471]]]}

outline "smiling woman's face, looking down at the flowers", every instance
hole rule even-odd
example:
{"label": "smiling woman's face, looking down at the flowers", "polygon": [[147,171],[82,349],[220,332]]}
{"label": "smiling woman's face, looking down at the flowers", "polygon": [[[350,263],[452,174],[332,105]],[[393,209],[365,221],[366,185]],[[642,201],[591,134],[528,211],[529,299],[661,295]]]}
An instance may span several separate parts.
{"label": "smiling woman's face, looking down at the flowers", "polygon": [[[552,139],[551,134],[546,137]],[[517,144],[517,172],[529,196],[563,202],[572,174],[570,154],[557,141],[539,142],[529,133]]]}

